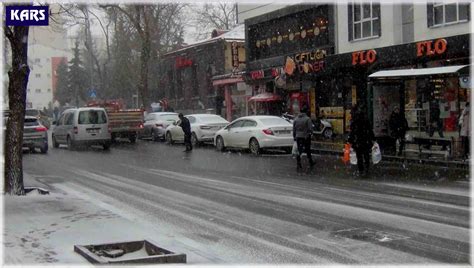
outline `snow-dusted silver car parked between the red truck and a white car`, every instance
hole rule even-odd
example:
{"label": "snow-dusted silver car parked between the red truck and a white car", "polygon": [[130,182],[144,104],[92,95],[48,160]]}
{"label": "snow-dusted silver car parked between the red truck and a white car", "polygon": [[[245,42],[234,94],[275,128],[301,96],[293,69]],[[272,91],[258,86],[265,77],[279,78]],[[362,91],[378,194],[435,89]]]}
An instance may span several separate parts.
{"label": "snow-dusted silver car parked between the red truck and a white car", "polygon": [[154,141],[164,140],[166,128],[179,120],[177,113],[155,112],[145,117],[141,138],[151,138]]}

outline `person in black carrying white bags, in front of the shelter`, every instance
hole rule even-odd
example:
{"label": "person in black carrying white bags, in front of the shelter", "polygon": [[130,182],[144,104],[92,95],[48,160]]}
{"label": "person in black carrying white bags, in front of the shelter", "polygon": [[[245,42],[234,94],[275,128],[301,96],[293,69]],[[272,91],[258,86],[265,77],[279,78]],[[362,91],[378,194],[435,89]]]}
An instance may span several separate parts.
{"label": "person in black carrying white bags, in front of the shelter", "polygon": [[359,175],[367,175],[370,166],[370,153],[375,137],[370,121],[367,118],[365,106],[356,105],[354,107],[348,141],[356,152]]}

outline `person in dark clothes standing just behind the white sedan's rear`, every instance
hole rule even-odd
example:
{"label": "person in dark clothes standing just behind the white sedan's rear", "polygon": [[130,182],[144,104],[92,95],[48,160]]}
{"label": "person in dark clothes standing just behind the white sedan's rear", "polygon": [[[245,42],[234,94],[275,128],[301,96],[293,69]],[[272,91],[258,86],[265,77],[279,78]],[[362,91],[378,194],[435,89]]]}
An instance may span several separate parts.
{"label": "person in dark clothes standing just behind the white sedan's rear", "polygon": [[308,108],[302,107],[300,114],[293,121],[293,139],[298,146],[298,155],[296,156],[296,167],[298,170],[302,169],[301,155],[306,152],[310,167],[315,165],[311,157],[311,135],[313,133],[313,123],[308,116]]}

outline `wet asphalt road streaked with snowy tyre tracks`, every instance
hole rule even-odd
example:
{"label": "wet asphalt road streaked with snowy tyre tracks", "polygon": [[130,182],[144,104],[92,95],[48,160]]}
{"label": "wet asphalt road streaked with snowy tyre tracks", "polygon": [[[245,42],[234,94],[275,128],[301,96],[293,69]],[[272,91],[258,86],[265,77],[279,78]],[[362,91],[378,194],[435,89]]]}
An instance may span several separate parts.
{"label": "wet asphalt road streaked with snowy tyre tracks", "polygon": [[50,148],[25,153],[24,168],[53,188],[77,185],[169,226],[205,245],[209,263],[470,262],[463,171],[383,164],[360,179],[335,156],[315,156],[316,167],[297,173],[279,152],[183,149],[152,141]]}

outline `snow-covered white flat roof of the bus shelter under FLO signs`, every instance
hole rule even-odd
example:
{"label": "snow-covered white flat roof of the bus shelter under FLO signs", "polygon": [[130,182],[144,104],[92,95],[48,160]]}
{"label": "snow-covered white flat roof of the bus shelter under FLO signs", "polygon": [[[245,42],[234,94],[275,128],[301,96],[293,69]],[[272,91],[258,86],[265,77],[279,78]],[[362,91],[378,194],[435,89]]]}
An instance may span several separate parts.
{"label": "snow-covered white flat roof of the bus shelter under FLO signs", "polygon": [[454,73],[468,74],[469,65],[454,65],[454,66],[444,66],[444,67],[436,67],[436,68],[378,71],[369,75],[369,78],[414,77],[414,76],[429,76],[429,75],[454,74]]}

